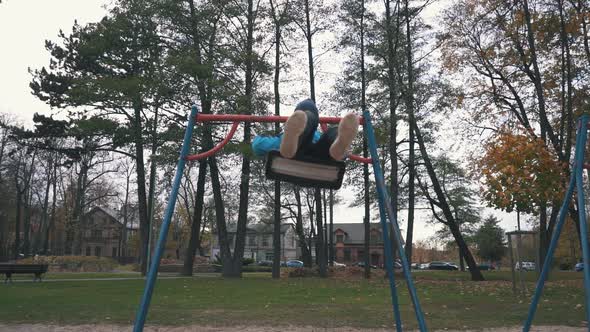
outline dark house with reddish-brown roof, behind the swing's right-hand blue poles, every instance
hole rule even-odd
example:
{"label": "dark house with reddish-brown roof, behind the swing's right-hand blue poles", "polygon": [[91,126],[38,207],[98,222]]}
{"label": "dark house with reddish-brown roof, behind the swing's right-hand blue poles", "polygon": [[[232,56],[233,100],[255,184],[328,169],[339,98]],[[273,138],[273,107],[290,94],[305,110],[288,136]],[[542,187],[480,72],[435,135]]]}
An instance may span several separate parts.
{"label": "dark house with reddish-brown roof, behind the swing's right-hand blue poles", "polygon": [[[363,223],[334,224],[334,248],[336,261],[352,264],[364,261],[365,225]],[[372,265],[384,262],[383,234],[381,224],[370,224],[369,254]]]}

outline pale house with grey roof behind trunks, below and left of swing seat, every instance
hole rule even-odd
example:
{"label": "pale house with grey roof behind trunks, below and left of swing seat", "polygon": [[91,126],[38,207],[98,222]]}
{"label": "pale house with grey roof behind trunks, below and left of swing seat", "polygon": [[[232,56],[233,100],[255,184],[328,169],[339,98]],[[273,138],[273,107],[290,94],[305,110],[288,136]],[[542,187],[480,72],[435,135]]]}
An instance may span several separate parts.
{"label": "pale house with grey roof behind trunks, below and left of swing seat", "polygon": [[[272,260],[273,247],[272,235],[274,225],[254,224],[246,228],[246,244],[244,247],[244,258],[252,258],[255,261]],[[233,252],[236,239],[236,227],[228,229],[230,249]],[[213,233],[211,239],[211,259],[220,255],[219,238]],[[281,225],[281,260],[287,261],[297,259],[300,256],[300,249],[297,244],[297,235],[293,224]]]}

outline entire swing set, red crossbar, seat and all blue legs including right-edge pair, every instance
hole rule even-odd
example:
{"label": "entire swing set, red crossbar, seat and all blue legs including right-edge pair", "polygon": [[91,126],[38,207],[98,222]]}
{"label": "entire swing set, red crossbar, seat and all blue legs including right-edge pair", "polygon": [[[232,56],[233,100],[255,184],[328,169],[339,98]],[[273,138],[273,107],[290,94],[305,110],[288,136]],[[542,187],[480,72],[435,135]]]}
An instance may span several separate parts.
{"label": "entire swing set, red crossbar, seat and all blue legs including right-edge pair", "polygon": [[[184,135],[184,140],[182,143],[182,148],[180,152],[180,158],[178,160],[178,164],[176,166],[176,174],[174,176],[174,180],[172,183],[172,190],[170,192],[170,197],[168,199],[168,204],[166,206],[166,210],[164,213],[164,220],[162,222],[162,226],[160,228],[160,233],[158,237],[158,242],[153,254],[153,258],[151,260],[151,264],[149,266],[145,288],[143,291],[143,295],[141,298],[141,303],[138,308],[135,323],[134,323],[134,332],[142,332],[145,321],[147,318],[147,312],[149,309],[150,301],[152,298],[152,293],[154,290],[154,286],[156,283],[156,279],[158,276],[158,268],[160,266],[160,259],[162,257],[162,253],[164,252],[164,248],[166,245],[166,237],[168,234],[168,229],[170,227],[170,222],[172,220],[172,214],[174,213],[174,208],[176,205],[176,199],[178,196],[178,190],[180,187],[180,183],[182,180],[182,175],[184,171],[184,166],[186,161],[195,161],[200,160],[203,158],[207,158],[210,156],[215,155],[215,153],[219,152],[223,147],[232,139],[233,135],[235,134],[238,126],[242,122],[274,122],[274,123],[284,123],[286,122],[288,117],[286,116],[254,116],[254,115],[224,115],[224,114],[201,114],[198,111],[197,106],[193,106],[191,109],[191,113],[188,119],[188,124],[186,128],[186,132]],[[189,155],[189,147],[191,142],[191,137],[193,134],[193,129],[195,123],[219,123],[219,122],[231,122],[232,126],[225,137],[220,143],[218,143],[215,147],[211,150],[202,152],[195,155]],[[322,129],[325,131],[327,129],[327,124],[337,124],[340,122],[339,117],[320,117],[319,122],[321,124]],[[553,233],[553,237],[551,239],[551,244],[549,246],[549,250],[547,252],[547,256],[545,259],[545,264],[543,265],[543,270],[541,271],[541,276],[537,283],[537,287],[535,290],[535,294],[533,296],[533,301],[531,303],[529,314],[525,325],[523,327],[524,332],[528,332],[530,326],[532,324],[532,319],[534,317],[537,304],[539,298],[541,296],[541,292],[543,290],[543,286],[545,280],[547,278],[547,274],[549,272],[549,267],[551,266],[553,253],[557,246],[559,234],[561,232],[563,223],[565,221],[565,216],[567,214],[567,208],[573,196],[573,191],[578,188],[578,210],[580,213],[580,228],[582,232],[582,250],[583,250],[583,257],[584,257],[584,286],[586,291],[586,317],[590,319],[590,268],[589,265],[589,258],[590,258],[590,250],[588,249],[588,239],[587,239],[587,225],[586,225],[586,215],[584,209],[584,192],[583,192],[583,169],[588,168],[584,164],[584,150],[586,146],[587,140],[587,130],[590,123],[590,116],[582,116],[578,121],[578,136],[576,140],[576,152],[575,152],[575,160],[574,160],[574,167],[572,168],[571,180],[569,184],[568,191],[566,193],[563,206],[559,211],[559,220],[557,225],[555,226],[555,232]],[[389,279],[389,288],[391,293],[391,303],[392,303],[392,310],[393,310],[393,317],[395,320],[395,328],[397,332],[402,332],[402,321],[401,315],[399,310],[399,300],[397,296],[397,288],[395,284],[395,276],[394,276],[394,268],[393,268],[393,253],[392,253],[392,246],[391,240],[389,238],[389,230],[390,228],[393,230],[393,236],[395,238],[395,244],[397,246],[397,250],[399,252],[399,257],[401,258],[402,269],[403,269],[403,277],[406,281],[408,292],[410,298],[412,300],[412,305],[414,308],[414,313],[416,316],[416,320],[418,322],[418,327],[420,332],[426,332],[426,322],[424,319],[424,313],[420,306],[420,302],[418,300],[418,295],[416,292],[416,288],[414,286],[414,282],[412,280],[412,275],[410,272],[410,264],[406,259],[405,250],[403,247],[403,239],[401,235],[401,231],[399,229],[399,225],[397,223],[396,213],[391,206],[391,200],[389,198],[389,193],[385,186],[385,179],[383,177],[383,171],[381,169],[381,163],[379,162],[379,156],[377,154],[377,143],[375,139],[375,131],[373,129],[373,125],[371,123],[371,115],[368,110],[363,110],[363,117],[360,120],[360,124],[364,126],[364,133],[367,137],[367,142],[369,146],[370,157],[363,158],[356,155],[351,155],[348,158],[357,162],[367,163],[373,165],[373,174],[375,176],[375,184],[377,187],[377,194],[378,194],[378,202],[379,202],[379,216],[380,216],[380,224],[382,227],[383,233],[383,244],[384,244],[384,251],[385,251],[385,268],[387,270],[387,276]],[[308,187],[316,187],[316,188],[328,188],[328,189],[338,189],[342,185],[342,179],[344,177],[345,172],[345,163],[340,161],[319,161],[314,160],[311,158],[296,158],[296,159],[287,159],[280,156],[280,154],[276,151],[273,151],[267,155],[266,158],[266,165],[265,165],[266,176],[269,179],[281,180],[290,183],[294,183],[300,186],[308,186]],[[590,332],[590,325],[588,331]]]}

